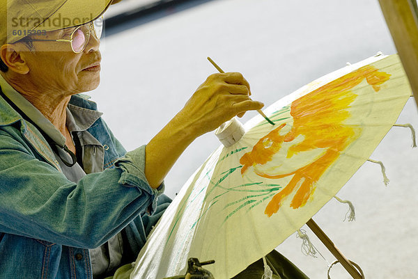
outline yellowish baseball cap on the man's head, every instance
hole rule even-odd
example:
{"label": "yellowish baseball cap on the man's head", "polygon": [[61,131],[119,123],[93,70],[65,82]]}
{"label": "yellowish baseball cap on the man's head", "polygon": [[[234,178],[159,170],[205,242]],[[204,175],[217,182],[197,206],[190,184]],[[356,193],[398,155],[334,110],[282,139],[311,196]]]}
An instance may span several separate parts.
{"label": "yellowish baseball cap on the man's head", "polygon": [[97,19],[111,0],[0,0],[0,45]]}

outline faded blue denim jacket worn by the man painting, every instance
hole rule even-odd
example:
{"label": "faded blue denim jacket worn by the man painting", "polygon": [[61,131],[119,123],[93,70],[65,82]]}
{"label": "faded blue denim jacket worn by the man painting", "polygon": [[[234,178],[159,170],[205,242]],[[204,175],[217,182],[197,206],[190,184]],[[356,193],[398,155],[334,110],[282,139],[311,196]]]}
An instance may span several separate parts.
{"label": "faded blue denim jacket worn by the man painting", "polygon": [[[70,104],[97,110],[83,95]],[[0,279],[92,277],[89,248],[123,233],[132,262],[169,204],[145,177],[145,146],[126,152],[99,118],[104,171],[67,180],[42,134],[0,97]],[[158,198],[160,199],[158,200]]]}

